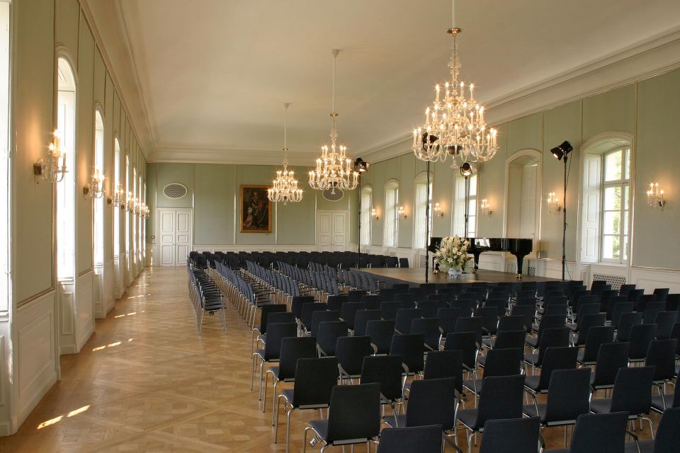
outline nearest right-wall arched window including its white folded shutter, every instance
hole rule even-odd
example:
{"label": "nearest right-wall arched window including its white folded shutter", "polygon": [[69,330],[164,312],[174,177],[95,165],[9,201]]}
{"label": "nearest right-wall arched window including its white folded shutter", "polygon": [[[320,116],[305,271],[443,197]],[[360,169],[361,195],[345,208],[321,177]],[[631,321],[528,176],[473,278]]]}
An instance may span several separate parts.
{"label": "nearest right-wall arched window including its white folded shutter", "polygon": [[581,259],[584,263],[628,262],[630,139],[584,144]]}

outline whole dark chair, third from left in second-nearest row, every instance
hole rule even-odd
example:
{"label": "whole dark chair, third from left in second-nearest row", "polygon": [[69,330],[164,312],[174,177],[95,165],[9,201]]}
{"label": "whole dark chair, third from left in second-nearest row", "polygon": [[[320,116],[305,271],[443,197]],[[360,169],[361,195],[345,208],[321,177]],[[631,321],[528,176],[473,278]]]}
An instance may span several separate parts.
{"label": "whole dark chair, third from left in second-nearest row", "polygon": [[467,452],[472,435],[484,432],[487,420],[521,418],[524,376],[488,377],[482,381],[477,408],[458,411],[456,419],[467,429]]}

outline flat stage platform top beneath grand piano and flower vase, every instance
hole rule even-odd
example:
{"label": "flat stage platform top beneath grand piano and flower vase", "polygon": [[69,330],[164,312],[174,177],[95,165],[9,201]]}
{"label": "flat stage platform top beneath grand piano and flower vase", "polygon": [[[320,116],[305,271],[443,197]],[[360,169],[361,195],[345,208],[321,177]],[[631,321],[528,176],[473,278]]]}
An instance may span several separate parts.
{"label": "flat stage platform top beneath grand piano and flower vase", "polygon": [[[390,287],[393,283],[411,283],[414,286],[425,283],[425,270],[423,268],[362,268],[361,272],[375,277],[379,282],[384,282],[385,287]],[[536,277],[535,275],[522,275],[518,280],[516,274],[508,272],[498,272],[497,270],[477,270],[476,273],[460,275],[459,278],[449,278],[448,273],[440,272],[435,274],[429,270],[428,280],[430,283],[474,283],[474,282],[548,282],[558,279],[548,277]]]}

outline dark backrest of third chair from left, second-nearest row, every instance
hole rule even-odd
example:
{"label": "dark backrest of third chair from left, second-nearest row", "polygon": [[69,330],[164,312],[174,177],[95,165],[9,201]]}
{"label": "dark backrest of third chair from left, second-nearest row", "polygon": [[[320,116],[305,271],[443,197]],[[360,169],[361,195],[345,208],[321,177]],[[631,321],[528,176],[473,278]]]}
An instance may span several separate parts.
{"label": "dark backrest of third chair from left, second-nearest row", "polygon": [[475,425],[483,427],[487,420],[521,418],[523,389],[524,376],[521,374],[483,379]]}

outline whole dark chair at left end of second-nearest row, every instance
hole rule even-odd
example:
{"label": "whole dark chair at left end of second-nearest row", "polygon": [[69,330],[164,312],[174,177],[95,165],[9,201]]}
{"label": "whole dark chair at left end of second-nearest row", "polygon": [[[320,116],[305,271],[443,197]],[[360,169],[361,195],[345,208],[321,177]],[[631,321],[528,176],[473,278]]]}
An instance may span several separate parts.
{"label": "whole dark chair at left end of second-nearest row", "polygon": [[331,391],[328,418],[310,420],[302,436],[307,451],[307,433],[327,447],[370,442],[380,435],[380,384],[337,385]]}

